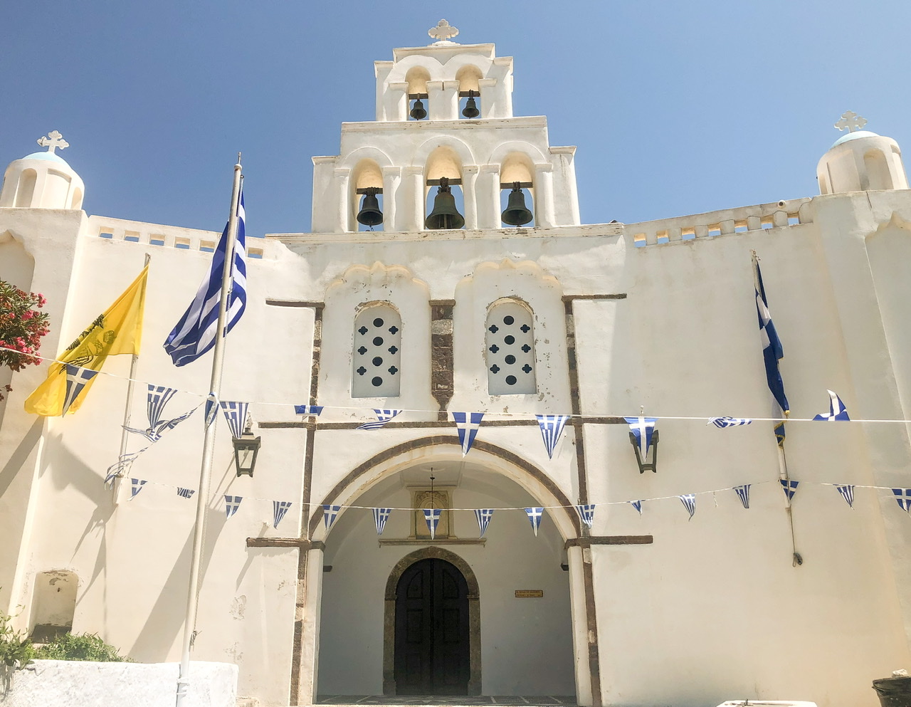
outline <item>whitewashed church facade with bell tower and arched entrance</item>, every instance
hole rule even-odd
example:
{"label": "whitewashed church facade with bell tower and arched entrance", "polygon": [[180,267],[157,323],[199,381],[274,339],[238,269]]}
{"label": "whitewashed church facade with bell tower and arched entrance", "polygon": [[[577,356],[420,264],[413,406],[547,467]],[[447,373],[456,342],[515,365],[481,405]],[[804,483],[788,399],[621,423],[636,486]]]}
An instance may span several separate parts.
{"label": "whitewashed church facade with bell tower and arched entrance", "polygon": [[[576,149],[513,115],[512,58],[432,31],[375,63],[376,120],[313,158],[311,231],[248,240],[221,399],[250,404],[261,446],[239,476],[220,422],[193,660],[237,663],[262,705],[875,705],[870,682],[911,664],[895,141],[848,116],[818,196],[581,224]],[[10,164],[0,279],[46,297],[51,356],[150,253],[132,420],[146,384],[176,391],[171,416],[199,407],[210,359],[176,368],[159,343],[219,234],[89,216],[84,191],[54,149]],[[786,353],[783,446],[753,251]],[[106,484],[128,356],[62,417],[24,412],[46,372],[0,371],[0,609],[178,660],[202,411]],[[811,421],[827,390],[850,422]],[[727,415],[752,424],[706,424]],[[646,448],[630,425],[652,418]]]}

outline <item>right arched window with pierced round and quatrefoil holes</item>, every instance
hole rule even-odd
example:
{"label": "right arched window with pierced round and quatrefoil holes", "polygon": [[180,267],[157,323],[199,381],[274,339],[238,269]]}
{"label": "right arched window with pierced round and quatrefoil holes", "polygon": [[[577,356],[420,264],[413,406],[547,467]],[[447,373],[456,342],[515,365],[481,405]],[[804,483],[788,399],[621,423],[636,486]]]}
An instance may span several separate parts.
{"label": "right arched window with pierced round and quatrefoil holes", "polygon": [[516,300],[495,302],[487,312],[486,326],[487,392],[537,393],[531,310]]}

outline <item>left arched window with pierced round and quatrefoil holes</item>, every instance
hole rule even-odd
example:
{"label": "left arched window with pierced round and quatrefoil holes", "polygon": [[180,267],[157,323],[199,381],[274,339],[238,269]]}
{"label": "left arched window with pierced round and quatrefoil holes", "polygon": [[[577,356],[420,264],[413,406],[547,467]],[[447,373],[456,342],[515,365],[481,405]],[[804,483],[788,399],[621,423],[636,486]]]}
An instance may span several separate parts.
{"label": "left arched window with pierced round and quatrefoil holes", "polygon": [[402,316],[386,302],[354,319],[352,397],[394,397],[402,373]]}

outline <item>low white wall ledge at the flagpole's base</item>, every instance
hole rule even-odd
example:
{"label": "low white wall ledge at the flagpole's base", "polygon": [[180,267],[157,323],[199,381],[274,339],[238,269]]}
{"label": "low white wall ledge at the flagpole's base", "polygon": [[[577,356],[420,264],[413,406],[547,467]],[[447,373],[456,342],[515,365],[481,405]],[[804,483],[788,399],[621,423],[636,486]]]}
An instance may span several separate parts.
{"label": "low white wall ledge at the flagpole's base", "polygon": [[[34,661],[12,673],[2,707],[174,707],[179,663]],[[189,707],[235,707],[237,666],[190,663]]]}

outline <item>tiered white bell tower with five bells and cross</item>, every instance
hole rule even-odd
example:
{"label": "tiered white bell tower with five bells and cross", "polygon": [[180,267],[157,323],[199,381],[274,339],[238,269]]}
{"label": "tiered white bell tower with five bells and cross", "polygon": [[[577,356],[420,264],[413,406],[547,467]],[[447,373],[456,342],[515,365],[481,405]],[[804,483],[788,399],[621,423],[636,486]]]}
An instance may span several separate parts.
{"label": "tiered white bell tower with five bells and cross", "polygon": [[376,120],[343,123],[339,154],[313,158],[314,233],[578,225],[576,148],[513,115],[511,56],[458,33],[440,20],[432,44],[374,62]]}

